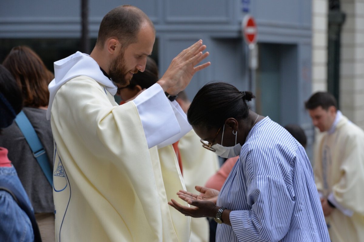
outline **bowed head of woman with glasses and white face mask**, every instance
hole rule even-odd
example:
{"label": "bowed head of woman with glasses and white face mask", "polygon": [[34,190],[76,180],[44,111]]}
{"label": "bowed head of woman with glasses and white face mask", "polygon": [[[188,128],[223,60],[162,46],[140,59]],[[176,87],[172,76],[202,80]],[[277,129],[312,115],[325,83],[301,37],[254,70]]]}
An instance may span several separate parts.
{"label": "bowed head of woman with glasses and white face mask", "polygon": [[246,101],[252,98],[252,92],[238,91],[228,83],[204,86],[187,113],[202,146],[223,158],[238,156],[249,131],[264,118],[249,110]]}

